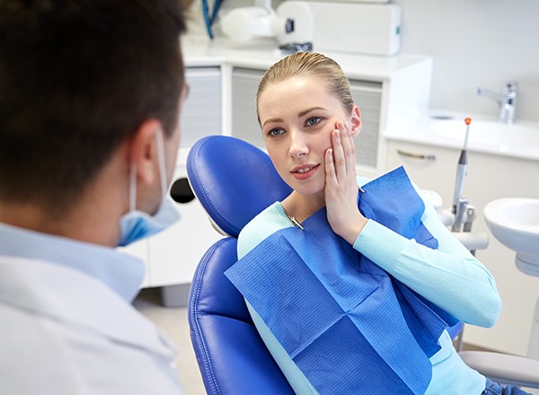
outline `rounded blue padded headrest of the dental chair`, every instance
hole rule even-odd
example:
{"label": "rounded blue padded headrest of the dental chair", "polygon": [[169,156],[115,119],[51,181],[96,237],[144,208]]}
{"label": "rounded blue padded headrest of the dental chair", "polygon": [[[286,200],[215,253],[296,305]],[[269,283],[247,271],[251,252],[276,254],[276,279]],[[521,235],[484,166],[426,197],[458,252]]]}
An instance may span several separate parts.
{"label": "rounded blue padded headrest of the dental chair", "polygon": [[195,143],[187,157],[187,177],[216,227],[233,237],[292,192],[268,154],[231,136],[207,136]]}

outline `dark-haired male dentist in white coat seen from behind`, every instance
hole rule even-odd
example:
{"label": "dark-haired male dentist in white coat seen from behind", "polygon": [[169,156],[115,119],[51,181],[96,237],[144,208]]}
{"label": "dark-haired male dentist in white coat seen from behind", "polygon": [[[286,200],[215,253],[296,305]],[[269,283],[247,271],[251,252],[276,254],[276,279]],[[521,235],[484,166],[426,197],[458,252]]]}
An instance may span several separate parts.
{"label": "dark-haired male dentist in white coat seen from behind", "polygon": [[186,6],[0,0],[0,393],[183,393],[115,247],[177,219]]}

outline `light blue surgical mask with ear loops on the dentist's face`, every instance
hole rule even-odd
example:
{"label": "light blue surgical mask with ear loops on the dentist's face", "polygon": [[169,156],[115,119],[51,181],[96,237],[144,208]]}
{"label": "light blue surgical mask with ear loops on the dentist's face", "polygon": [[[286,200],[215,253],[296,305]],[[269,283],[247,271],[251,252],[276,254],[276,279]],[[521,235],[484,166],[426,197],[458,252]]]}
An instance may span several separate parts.
{"label": "light blue surgical mask with ear loops on the dentist's face", "polygon": [[156,139],[163,200],[155,215],[149,215],[144,211],[137,210],[137,172],[135,165],[131,165],[131,174],[129,177],[129,212],[122,215],[119,219],[119,247],[125,247],[132,242],[161,232],[180,219],[180,213],[178,213],[172,198],[167,193],[168,185],[164,165],[163,132],[161,130],[157,132]]}

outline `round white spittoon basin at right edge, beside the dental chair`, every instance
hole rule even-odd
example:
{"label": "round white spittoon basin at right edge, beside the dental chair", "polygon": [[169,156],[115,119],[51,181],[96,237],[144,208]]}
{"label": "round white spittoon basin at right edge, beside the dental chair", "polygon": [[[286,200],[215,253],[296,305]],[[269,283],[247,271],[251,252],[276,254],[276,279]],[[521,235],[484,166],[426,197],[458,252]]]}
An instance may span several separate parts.
{"label": "round white spittoon basin at right edge, beside the dental chair", "polygon": [[494,237],[517,252],[517,268],[539,276],[539,199],[493,200],[484,207],[483,215]]}

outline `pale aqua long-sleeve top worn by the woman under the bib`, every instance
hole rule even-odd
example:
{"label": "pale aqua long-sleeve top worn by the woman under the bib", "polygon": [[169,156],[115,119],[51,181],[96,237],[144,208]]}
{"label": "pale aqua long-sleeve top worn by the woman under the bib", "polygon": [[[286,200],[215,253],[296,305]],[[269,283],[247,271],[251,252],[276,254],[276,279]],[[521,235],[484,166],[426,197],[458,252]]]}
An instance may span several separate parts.
{"label": "pale aqua long-sleeve top worn by the woman under the bib", "polygon": [[[358,177],[358,185],[369,180]],[[415,186],[414,186],[415,187]],[[455,239],[439,220],[428,198],[416,187],[425,202],[421,220],[437,238],[438,249],[409,240],[369,220],[354,242],[354,249],[371,259],[404,285],[471,325],[491,327],[498,320],[501,303],[490,272]],[[242,258],[270,234],[294,226],[281,204],[276,202],[247,224],[238,238],[238,258]],[[247,303],[261,338],[297,394],[318,394],[305,375],[287,355],[257,312]],[[441,349],[430,358],[432,378],[426,394],[481,394],[485,378],[468,367],[453,347],[445,331],[438,340]]]}

